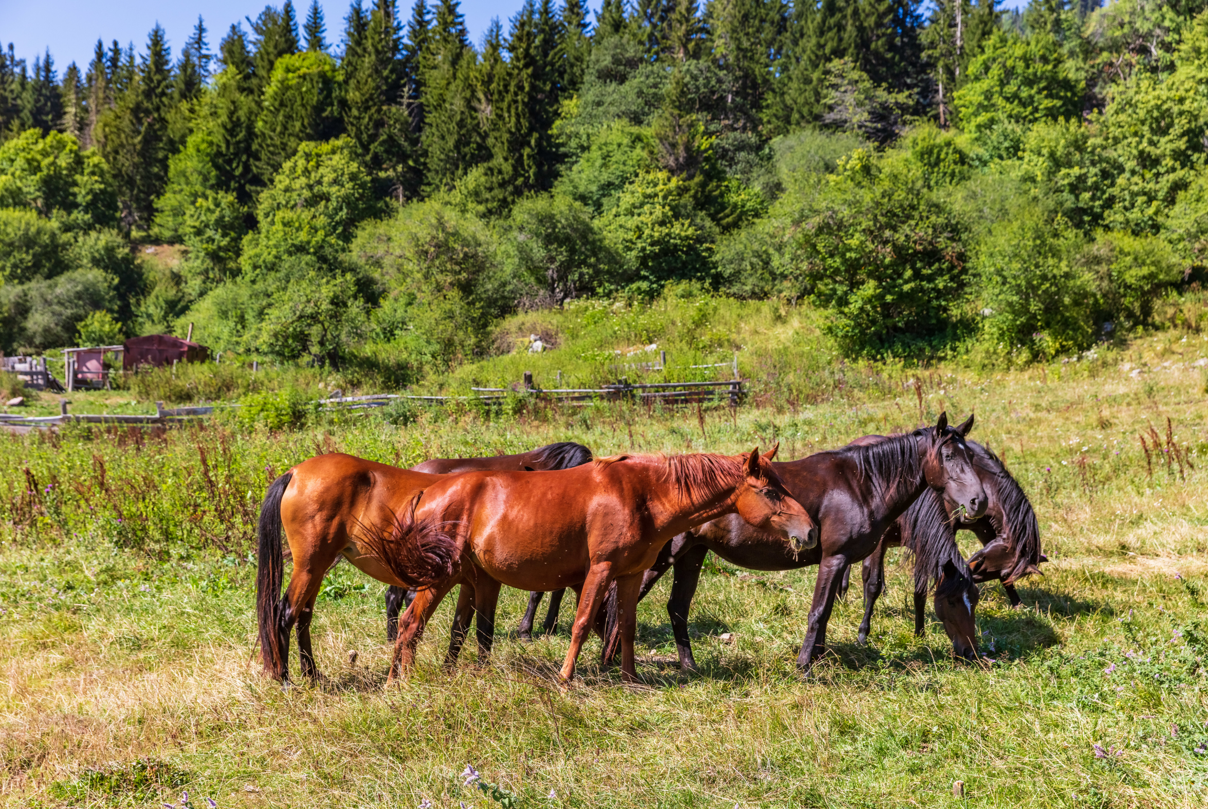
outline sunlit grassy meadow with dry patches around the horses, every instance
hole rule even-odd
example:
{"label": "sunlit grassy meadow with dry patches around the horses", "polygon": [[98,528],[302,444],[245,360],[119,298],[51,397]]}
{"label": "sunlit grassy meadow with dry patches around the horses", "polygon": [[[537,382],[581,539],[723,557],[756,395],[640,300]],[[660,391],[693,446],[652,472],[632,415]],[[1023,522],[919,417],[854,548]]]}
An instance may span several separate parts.
{"label": "sunlit grassy meadow with dry patches around the horses", "polygon": [[[737,412],[521,402],[318,414],[286,431],[230,418],[165,435],[0,435],[0,804],[179,804],[187,791],[222,808],[1204,805],[1208,339],[1166,331],[1011,372],[917,371],[836,363],[797,315],[766,314],[714,315],[704,333],[725,336],[695,348],[661,326],[612,338],[715,362],[742,348],[753,391]],[[609,345],[510,324],[561,327],[567,343],[464,366],[449,390],[523,369],[547,388],[557,371],[590,380],[591,351]],[[80,396],[150,407],[138,391]],[[489,662],[467,645],[441,670],[446,603],[413,674],[385,689],[383,587],[348,565],[315,612],[324,680],[283,691],[252,660],[254,519],[267,482],[315,453],[412,465],[563,440],[598,455],[779,441],[797,458],[940,409],[976,412],[974,437],[1032,496],[1050,559],[1021,583],[1024,609],[985,588],[981,664],[953,662],[935,623],[914,639],[892,563],[870,645],[855,642],[853,588],[831,618],[834,653],[802,681],[813,571],[715,560],[693,604],[691,676],[675,664],[666,577],[639,609],[640,686],[602,670],[593,639],[581,680],[559,688],[573,599],[558,634],[525,644],[525,594],[505,590]],[[465,786],[466,764],[498,791]]]}

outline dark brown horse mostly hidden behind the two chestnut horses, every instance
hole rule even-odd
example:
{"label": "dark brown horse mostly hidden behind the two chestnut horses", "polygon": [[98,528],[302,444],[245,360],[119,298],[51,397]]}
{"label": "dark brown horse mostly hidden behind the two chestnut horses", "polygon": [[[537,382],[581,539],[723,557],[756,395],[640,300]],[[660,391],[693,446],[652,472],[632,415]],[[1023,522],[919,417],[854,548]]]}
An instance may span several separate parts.
{"label": "dark brown horse mostly hidden behind the two chestnut horses", "polygon": [[[569,470],[575,466],[592,462],[592,450],[582,444],[570,441],[562,441],[554,444],[546,444],[527,453],[517,455],[495,455],[494,458],[434,458],[411,468],[416,472],[430,472],[432,475],[454,475],[458,472],[499,471],[499,472],[536,472],[552,470]],[[550,604],[562,601],[564,590],[557,590],[550,596]],[[399,636],[399,613],[407,609],[414,590],[405,590],[401,587],[390,587],[385,592],[385,638],[391,644]],[[541,603],[544,593],[529,594],[529,609],[524,613],[528,621],[528,632],[521,625],[521,638],[530,638],[533,630],[533,616]],[[554,611],[557,617],[557,611]],[[478,633],[494,633],[494,627],[489,630],[482,625],[482,616],[478,616]],[[546,632],[552,632],[553,627],[547,627]]]}

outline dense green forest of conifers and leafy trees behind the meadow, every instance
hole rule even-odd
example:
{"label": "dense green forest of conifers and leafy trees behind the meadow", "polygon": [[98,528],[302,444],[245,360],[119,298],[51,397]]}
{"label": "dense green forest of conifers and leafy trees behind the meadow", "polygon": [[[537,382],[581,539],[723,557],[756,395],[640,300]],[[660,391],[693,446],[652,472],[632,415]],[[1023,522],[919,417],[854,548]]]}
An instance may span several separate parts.
{"label": "dense green forest of conifers and leafy trees behind the meadow", "polygon": [[193,324],[407,385],[672,284],[847,357],[1071,356],[1200,295],[1206,8],[524,0],[475,43],[457,0],[286,1],[62,71],[10,43],[0,350]]}

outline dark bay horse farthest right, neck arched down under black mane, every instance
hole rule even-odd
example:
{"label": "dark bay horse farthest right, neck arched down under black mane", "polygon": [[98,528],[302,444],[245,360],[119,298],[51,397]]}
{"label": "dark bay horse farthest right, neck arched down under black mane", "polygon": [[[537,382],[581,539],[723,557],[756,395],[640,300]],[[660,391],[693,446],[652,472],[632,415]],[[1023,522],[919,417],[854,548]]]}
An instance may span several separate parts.
{"label": "dark bay horse farthest right, neck arched down under black mane", "polygon": [[[877,549],[865,560],[861,570],[864,578],[864,621],[860,623],[860,642],[869,636],[872,623],[872,610],[884,587],[885,551],[901,546],[913,553],[914,558],[914,632],[923,632],[923,612],[928,580],[934,575],[934,563],[927,554],[919,555],[919,547],[931,547],[947,542],[928,541],[928,535],[952,537],[956,545],[958,529],[966,529],[982,543],[982,549],[969,557],[968,575],[976,583],[999,580],[1011,601],[1011,606],[1021,604],[1015,582],[1023,576],[1040,574],[1040,563],[1046,561],[1040,552],[1040,525],[1032,502],[1018,482],[1006,470],[998,455],[978,444],[969,442],[974,453],[974,471],[986,489],[986,513],[978,518],[956,516],[949,518],[943,513],[942,504],[934,499],[920,497],[913,524],[899,524],[885,532]],[[911,516],[907,512],[907,517]],[[922,545],[920,545],[922,542]],[[964,565],[962,565],[964,566]],[[936,595],[939,598],[939,594]],[[976,604],[976,600],[974,601]],[[939,612],[939,610],[936,610]]]}

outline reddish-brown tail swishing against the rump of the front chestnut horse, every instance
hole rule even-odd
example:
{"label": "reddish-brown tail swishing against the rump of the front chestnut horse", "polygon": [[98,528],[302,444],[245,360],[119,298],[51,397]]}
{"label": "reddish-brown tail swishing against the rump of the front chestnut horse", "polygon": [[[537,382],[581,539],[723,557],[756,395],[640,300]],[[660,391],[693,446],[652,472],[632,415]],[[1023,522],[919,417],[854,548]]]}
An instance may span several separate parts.
{"label": "reddish-brown tail swishing against the rump of the front chestnut horse", "polygon": [[458,559],[457,536],[447,530],[451,523],[416,518],[423,491],[410,507],[391,512],[385,523],[358,523],[356,537],[365,549],[385,565],[407,589],[423,589],[453,575]]}

